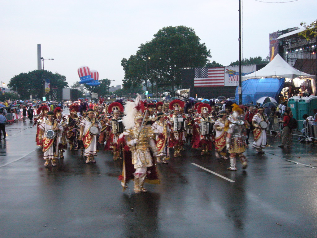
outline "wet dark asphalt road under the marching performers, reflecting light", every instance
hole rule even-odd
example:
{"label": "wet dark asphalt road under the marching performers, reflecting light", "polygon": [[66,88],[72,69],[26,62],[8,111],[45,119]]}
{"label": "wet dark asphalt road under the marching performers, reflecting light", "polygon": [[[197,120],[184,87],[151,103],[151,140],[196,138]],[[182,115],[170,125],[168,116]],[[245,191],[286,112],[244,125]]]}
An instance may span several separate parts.
{"label": "wet dark asphalt road under the marching performers, reflecting light", "polygon": [[121,162],[110,152],[87,165],[68,150],[58,167],[45,168],[31,125],[7,126],[0,142],[1,238],[317,237],[315,145],[280,149],[268,136],[272,147],[264,155],[248,149],[249,167],[238,162],[236,172],[213,151],[186,146],[182,158],[158,165],[161,184],[134,194],[132,182],[122,191]]}

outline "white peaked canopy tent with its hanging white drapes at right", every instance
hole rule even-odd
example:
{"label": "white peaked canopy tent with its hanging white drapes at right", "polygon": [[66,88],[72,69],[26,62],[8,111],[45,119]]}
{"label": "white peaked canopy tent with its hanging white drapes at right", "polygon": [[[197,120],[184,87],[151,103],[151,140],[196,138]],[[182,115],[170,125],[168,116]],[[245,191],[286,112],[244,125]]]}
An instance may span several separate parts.
{"label": "white peaked canopy tent with its hanging white drapes at right", "polygon": [[311,80],[313,94],[316,92],[315,76],[301,72],[290,66],[279,54],[262,69],[243,76],[242,81],[251,78],[285,78],[286,82],[292,81],[295,87],[300,87],[308,79]]}

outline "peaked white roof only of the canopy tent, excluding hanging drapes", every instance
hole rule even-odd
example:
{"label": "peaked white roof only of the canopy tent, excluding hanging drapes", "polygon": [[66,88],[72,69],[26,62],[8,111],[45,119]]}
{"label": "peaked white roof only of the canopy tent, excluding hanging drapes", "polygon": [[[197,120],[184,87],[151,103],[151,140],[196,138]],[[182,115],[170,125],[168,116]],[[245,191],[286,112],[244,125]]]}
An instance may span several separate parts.
{"label": "peaked white roof only of the canopy tent, excluding hanging drapes", "polygon": [[298,69],[290,66],[283,58],[277,54],[274,59],[268,63],[262,69],[248,74],[242,77],[242,81],[248,80],[250,78],[290,78],[294,79],[297,77],[301,78],[315,78],[314,75],[310,75],[304,72],[301,72]]}

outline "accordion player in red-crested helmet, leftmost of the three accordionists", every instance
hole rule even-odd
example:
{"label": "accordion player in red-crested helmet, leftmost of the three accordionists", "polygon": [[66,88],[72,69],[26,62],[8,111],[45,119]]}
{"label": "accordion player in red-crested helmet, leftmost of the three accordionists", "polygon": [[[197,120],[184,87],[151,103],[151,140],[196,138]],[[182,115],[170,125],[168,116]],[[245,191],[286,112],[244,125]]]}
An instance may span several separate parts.
{"label": "accordion player in red-crested helmet, leftmost of the three accordionists", "polygon": [[117,142],[120,134],[123,132],[122,118],[120,112],[123,112],[123,106],[120,102],[112,102],[108,107],[108,113],[112,117],[108,120],[106,128],[107,143],[104,150],[112,150],[113,160],[121,160],[120,149],[117,148]]}

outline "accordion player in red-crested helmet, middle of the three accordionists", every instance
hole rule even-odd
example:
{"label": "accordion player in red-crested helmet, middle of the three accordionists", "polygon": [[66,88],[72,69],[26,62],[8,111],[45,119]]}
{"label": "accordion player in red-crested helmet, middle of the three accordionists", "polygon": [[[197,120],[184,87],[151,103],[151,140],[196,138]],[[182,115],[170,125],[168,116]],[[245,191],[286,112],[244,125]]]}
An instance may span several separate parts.
{"label": "accordion player in red-crested helmet, middle of the three accordionists", "polygon": [[183,145],[185,142],[185,131],[187,128],[187,120],[185,116],[182,116],[179,111],[184,108],[185,103],[178,99],[170,102],[169,108],[173,110],[174,113],[170,114],[169,120],[172,124],[173,134],[171,135],[171,140],[169,143],[170,147],[174,147],[174,157],[182,156],[180,151],[184,150]]}

